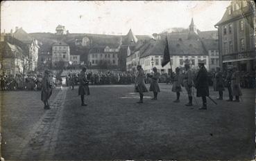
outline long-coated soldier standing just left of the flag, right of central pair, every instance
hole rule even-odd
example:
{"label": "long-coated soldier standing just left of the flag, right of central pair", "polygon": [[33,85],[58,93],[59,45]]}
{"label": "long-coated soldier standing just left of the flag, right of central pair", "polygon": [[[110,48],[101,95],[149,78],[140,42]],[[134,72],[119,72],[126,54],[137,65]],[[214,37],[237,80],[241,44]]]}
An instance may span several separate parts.
{"label": "long-coated soldier standing just left of the flag, right of central pair", "polygon": [[160,73],[157,72],[157,68],[153,68],[153,75],[151,75],[151,86],[149,87],[149,91],[153,92],[154,97],[151,100],[157,100],[157,93],[160,92],[159,88],[159,78],[160,78]]}

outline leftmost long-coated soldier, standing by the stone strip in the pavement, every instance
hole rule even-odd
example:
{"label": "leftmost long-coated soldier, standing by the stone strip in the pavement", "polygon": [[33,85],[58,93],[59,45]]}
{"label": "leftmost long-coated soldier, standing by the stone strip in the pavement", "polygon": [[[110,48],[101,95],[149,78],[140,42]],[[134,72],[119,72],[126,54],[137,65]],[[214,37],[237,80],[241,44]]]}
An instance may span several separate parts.
{"label": "leftmost long-coated soldier, standing by the stone strip in the pavement", "polygon": [[44,71],[44,77],[42,79],[42,92],[41,100],[44,102],[44,109],[50,109],[49,98],[52,94],[51,82],[49,79],[49,70]]}

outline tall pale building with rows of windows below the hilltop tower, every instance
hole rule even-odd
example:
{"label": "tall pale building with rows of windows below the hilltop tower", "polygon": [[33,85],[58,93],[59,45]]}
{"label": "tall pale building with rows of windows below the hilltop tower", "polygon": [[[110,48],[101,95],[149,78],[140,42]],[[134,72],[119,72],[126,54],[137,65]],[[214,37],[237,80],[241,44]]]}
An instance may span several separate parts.
{"label": "tall pale building with rows of windows below the hilltop tower", "polygon": [[53,67],[69,66],[69,46],[63,42],[58,41],[52,46],[52,64]]}

